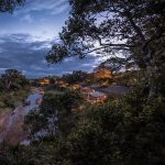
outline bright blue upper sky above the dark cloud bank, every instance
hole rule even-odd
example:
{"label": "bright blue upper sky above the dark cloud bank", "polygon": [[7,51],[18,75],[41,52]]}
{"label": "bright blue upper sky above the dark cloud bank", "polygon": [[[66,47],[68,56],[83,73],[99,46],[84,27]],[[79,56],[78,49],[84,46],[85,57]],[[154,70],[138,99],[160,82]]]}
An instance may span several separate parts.
{"label": "bright blue upper sky above the dark cloud bank", "polygon": [[25,4],[12,14],[0,15],[0,34],[28,33],[44,40],[53,38],[58,36],[68,13],[68,0],[25,0]]}

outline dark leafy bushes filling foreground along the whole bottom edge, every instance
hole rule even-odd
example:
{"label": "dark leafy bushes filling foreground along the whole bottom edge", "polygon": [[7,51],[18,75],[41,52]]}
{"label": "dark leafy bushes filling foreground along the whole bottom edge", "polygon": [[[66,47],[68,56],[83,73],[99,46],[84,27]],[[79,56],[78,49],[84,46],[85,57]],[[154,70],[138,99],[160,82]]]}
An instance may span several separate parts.
{"label": "dark leafy bushes filling foreground along the whole bottom edge", "polygon": [[120,100],[92,106],[67,135],[56,134],[15,152],[3,147],[1,152],[8,154],[1,161],[13,158],[16,165],[21,160],[34,165],[165,164],[164,98],[146,105],[144,91],[139,88]]}

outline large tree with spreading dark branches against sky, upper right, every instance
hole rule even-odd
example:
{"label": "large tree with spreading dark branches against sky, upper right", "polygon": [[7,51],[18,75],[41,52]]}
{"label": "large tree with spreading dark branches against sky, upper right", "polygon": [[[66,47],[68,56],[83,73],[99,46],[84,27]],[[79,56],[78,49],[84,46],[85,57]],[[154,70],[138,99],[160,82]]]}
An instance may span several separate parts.
{"label": "large tree with spreading dark branches against sky, upper right", "polygon": [[[47,54],[50,63],[100,51],[134,62],[147,72],[148,99],[161,92],[165,59],[165,1],[70,0],[70,16],[59,33],[62,44]],[[98,45],[96,47],[96,45]]]}

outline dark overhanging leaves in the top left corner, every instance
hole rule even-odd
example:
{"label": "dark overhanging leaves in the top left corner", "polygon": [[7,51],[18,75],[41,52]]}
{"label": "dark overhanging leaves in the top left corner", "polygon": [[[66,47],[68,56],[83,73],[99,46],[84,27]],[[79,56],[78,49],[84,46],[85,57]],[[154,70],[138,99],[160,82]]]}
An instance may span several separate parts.
{"label": "dark overhanging leaves in the top left corner", "polygon": [[0,0],[0,12],[12,12],[16,6],[21,6],[24,0]]}

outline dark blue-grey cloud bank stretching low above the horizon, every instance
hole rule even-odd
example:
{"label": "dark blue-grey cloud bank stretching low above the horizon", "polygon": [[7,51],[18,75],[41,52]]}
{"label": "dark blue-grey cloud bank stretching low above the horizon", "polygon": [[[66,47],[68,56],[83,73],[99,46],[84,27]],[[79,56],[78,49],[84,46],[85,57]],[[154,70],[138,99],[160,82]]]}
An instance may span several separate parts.
{"label": "dark blue-grey cloud bank stretching low above the horizon", "polygon": [[9,34],[1,36],[0,42],[0,73],[7,68],[14,68],[28,77],[63,75],[73,70],[91,72],[99,64],[99,58],[89,55],[86,59],[66,58],[64,63],[50,65],[45,62],[52,43],[41,41],[29,34]]}

